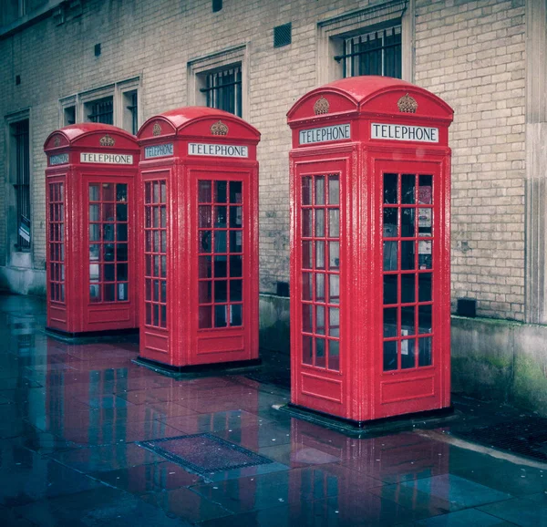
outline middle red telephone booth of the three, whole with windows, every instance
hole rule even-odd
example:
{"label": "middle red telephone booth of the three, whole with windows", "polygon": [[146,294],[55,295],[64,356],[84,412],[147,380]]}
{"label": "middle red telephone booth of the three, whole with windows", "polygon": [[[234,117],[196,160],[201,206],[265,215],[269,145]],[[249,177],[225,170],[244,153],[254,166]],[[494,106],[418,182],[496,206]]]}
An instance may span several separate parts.
{"label": "middle red telephone booth of the three, whole with windows", "polygon": [[260,134],[190,107],[149,119],[138,137],[139,358],[175,370],[258,359]]}

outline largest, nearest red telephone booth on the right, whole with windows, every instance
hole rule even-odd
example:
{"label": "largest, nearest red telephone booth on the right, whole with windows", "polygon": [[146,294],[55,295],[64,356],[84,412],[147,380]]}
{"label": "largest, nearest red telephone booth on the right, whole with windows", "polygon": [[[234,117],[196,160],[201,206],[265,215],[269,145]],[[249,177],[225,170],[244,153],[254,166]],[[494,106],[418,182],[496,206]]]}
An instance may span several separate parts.
{"label": "largest, nearest red telephone booth on the right, whole with windows", "polygon": [[449,407],[452,117],[385,77],[289,111],[293,405],[357,422]]}

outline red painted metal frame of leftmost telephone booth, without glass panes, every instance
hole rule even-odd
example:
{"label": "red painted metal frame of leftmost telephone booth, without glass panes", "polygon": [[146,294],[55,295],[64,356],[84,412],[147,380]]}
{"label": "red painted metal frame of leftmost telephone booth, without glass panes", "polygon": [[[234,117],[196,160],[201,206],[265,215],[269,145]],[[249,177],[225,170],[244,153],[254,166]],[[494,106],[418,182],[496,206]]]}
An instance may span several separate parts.
{"label": "red painted metal frame of leftmost telephone booth, without glass panes", "polygon": [[[44,151],[47,155],[47,327],[68,334],[136,328],[139,323],[134,226],[135,180],[139,168],[139,146],[136,138],[113,126],[81,123],[52,132],[46,140]],[[131,155],[132,162],[82,163],[80,154],[86,152]],[[121,274],[113,274],[116,278],[112,280],[106,279],[108,284],[104,284],[106,275],[103,274],[102,281],[98,282],[98,287],[104,284],[105,288],[112,289],[116,298],[114,301],[91,302],[90,299],[89,184],[92,183],[100,185],[99,189],[102,189],[103,185],[114,185],[114,191],[116,185],[127,185],[127,220],[119,223],[127,224],[128,229],[127,279],[124,278],[122,281],[128,285],[119,284],[118,278]],[[59,188],[63,190],[62,196],[57,191]],[[103,209],[106,211],[107,207],[116,210],[114,200],[116,197],[106,206],[98,203],[100,214],[103,213]],[[119,204],[123,206],[126,202]],[[106,229],[112,229],[112,225],[116,225],[119,220],[117,212],[114,214],[112,220],[101,215],[97,223],[97,228],[102,234],[96,245],[104,251],[108,248],[104,238]],[[109,241],[116,242],[115,238],[118,235],[110,233]],[[60,253],[61,246],[64,254]],[[110,243],[109,246],[114,250],[114,243]],[[100,263],[95,265],[100,267],[100,271],[105,271],[107,257],[103,254],[99,258]],[[115,264],[114,256],[113,263],[108,265]],[[113,268],[108,266],[108,269]],[[115,270],[114,273],[118,271]],[[120,285],[129,290],[126,300],[119,300]]]}

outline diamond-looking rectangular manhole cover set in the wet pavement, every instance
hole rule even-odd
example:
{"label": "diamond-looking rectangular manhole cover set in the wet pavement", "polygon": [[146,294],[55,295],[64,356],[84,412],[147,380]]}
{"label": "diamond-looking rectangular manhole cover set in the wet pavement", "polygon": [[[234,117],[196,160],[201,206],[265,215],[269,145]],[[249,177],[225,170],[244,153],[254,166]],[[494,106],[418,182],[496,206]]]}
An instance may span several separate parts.
{"label": "diamond-looking rectangular manhole cover set in the wet pavement", "polygon": [[140,441],[139,445],[201,475],[274,462],[208,433]]}

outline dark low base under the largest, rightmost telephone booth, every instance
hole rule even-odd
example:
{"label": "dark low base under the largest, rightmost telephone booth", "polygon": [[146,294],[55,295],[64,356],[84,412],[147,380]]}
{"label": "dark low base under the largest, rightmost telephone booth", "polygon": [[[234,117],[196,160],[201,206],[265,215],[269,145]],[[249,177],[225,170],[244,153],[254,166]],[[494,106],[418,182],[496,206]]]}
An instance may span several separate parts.
{"label": "dark low base under the largest, rightmost telephone booth", "polygon": [[387,433],[417,428],[437,428],[459,418],[459,414],[454,411],[454,407],[451,405],[447,408],[366,421],[339,418],[337,416],[325,414],[324,412],[294,405],[293,403],[279,406],[274,405],[274,408],[289,414],[291,417],[299,418],[329,429],[335,429],[352,438],[382,436]]}

